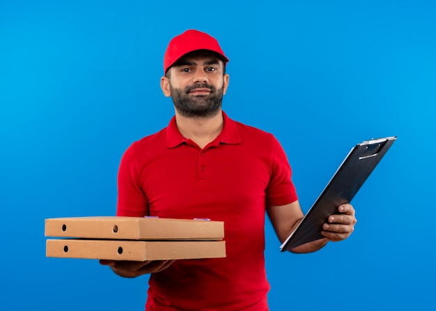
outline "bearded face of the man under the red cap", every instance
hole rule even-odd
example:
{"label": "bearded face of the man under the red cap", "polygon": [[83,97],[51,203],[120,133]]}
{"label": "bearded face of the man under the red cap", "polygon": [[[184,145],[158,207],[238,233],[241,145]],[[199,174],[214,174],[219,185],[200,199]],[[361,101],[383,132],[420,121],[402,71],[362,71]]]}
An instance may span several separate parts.
{"label": "bearded face of the man under the red cap", "polygon": [[215,54],[196,52],[171,66],[161,86],[180,115],[210,118],[221,111],[228,75],[224,75],[224,63]]}

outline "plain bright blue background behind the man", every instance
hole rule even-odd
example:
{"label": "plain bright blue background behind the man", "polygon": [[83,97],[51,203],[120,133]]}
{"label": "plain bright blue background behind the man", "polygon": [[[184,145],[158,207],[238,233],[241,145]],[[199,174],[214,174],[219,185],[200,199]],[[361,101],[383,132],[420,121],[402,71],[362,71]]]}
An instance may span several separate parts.
{"label": "plain bright blue background behind the man", "polygon": [[278,137],[304,211],[352,146],[398,136],[348,240],[281,253],[266,223],[271,310],[430,308],[435,16],[430,0],[1,1],[2,310],[143,310],[147,276],[46,258],[44,220],[115,213],[123,151],[173,115],[162,59],[190,28],[219,40],[224,110]]}

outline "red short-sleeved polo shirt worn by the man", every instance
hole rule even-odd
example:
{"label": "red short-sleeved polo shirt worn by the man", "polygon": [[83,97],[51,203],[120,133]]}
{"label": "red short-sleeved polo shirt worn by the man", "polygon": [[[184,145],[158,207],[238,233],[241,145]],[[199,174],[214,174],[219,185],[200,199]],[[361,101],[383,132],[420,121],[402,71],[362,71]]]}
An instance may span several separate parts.
{"label": "red short-sleeved polo shirt worn by the man", "polygon": [[297,195],[277,139],[223,116],[221,134],[203,149],[173,118],[120,162],[117,215],[224,221],[226,258],[178,260],[153,273],[146,310],[267,310],[265,206]]}

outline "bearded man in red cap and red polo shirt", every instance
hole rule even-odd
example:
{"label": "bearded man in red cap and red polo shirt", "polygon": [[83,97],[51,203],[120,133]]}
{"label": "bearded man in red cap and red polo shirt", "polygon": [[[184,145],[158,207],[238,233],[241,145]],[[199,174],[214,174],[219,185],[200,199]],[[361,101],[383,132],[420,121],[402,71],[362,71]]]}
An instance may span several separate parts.
{"label": "bearded man in red cap and red polo shirt", "polygon": [[[127,278],[151,273],[146,310],[268,310],[265,214],[281,242],[303,218],[274,135],[221,109],[227,62],[207,33],[188,30],[173,38],[160,85],[175,116],[134,142],[120,162],[116,215],[224,222],[225,258],[100,261]],[[323,225],[325,238],[291,251],[313,252],[348,238],[355,222],[352,206],[342,204]]]}

